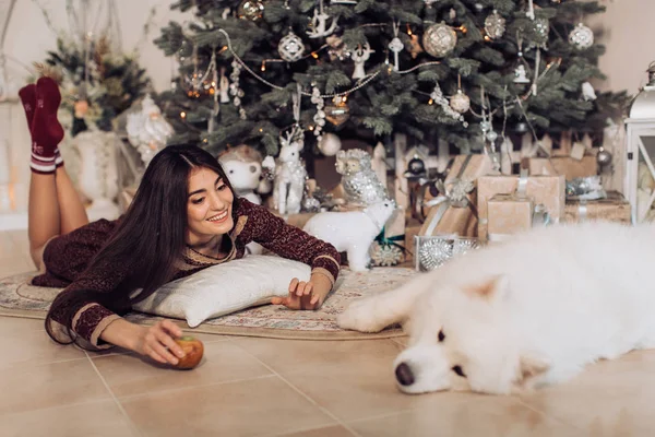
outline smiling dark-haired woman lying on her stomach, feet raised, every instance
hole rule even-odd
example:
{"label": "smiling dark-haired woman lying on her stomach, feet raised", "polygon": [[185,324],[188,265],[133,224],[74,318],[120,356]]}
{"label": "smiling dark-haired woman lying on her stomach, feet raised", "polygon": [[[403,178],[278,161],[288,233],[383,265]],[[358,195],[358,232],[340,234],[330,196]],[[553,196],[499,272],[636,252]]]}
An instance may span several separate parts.
{"label": "smiling dark-haired woman lying on her stomach, feet raised", "polygon": [[174,338],[182,332],[176,324],[143,327],[121,316],[169,281],[243,257],[251,241],[312,268],[309,282],[293,279],[289,295],[272,304],[323,304],[340,271],[335,248],[237,198],[221,165],[200,147],[165,147],[123,216],[88,223],[58,150],[57,83],[41,78],[19,94],[33,140],[28,235],[41,274],[32,283],[64,287],[46,318],[55,341],[90,350],[118,345],[177,364],[182,351]]}

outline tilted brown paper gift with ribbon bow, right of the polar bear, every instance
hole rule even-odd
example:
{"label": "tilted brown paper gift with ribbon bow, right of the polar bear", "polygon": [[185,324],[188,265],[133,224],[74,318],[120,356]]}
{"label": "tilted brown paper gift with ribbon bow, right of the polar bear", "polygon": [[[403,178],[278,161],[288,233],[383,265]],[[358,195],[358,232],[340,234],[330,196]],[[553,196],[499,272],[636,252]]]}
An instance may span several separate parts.
{"label": "tilted brown paper gift with ribbon bow, right of the polar bear", "polygon": [[[429,209],[419,235],[453,235],[461,237],[475,237],[477,235],[477,196],[475,187],[480,176],[492,172],[491,158],[487,155],[457,155],[453,166],[443,182],[442,188],[451,192],[458,182],[468,182],[465,202],[451,201],[448,196],[431,199],[433,205]],[[442,189],[443,191],[443,189]],[[429,203],[428,203],[429,204]]]}

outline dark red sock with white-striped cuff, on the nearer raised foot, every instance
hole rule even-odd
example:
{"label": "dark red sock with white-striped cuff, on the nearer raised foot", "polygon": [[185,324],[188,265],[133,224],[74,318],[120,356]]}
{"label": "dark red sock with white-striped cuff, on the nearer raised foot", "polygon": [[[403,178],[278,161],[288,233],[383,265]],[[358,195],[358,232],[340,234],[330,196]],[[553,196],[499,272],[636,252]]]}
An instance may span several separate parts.
{"label": "dark red sock with white-striped cuff, on the nearer raised foot", "polygon": [[63,128],[57,120],[61,103],[59,85],[50,78],[36,82],[36,109],[32,121],[32,162],[36,173],[53,173],[57,169],[57,145],[63,139]]}

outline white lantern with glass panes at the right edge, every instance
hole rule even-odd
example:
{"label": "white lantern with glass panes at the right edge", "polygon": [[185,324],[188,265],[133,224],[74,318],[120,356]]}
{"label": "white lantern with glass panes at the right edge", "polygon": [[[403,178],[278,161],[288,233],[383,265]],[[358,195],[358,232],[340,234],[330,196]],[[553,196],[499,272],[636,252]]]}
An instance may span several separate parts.
{"label": "white lantern with glass panes at the right edge", "polygon": [[[648,84],[634,98],[626,119],[626,175],[623,192],[632,208],[632,223],[645,221],[655,202],[655,62],[648,67]],[[641,177],[640,177],[641,168]]]}

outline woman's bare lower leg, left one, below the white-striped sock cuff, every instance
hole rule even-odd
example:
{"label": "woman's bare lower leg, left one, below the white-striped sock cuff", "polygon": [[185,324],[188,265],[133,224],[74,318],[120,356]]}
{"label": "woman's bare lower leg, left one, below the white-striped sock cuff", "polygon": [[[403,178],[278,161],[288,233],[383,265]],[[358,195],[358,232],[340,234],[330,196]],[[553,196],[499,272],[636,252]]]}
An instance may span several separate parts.
{"label": "woman's bare lower leg, left one, below the white-striped sock cuff", "polygon": [[55,174],[41,175],[32,172],[27,205],[27,235],[32,260],[39,270],[41,270],[44,246],[61,232],[57,198]]}

